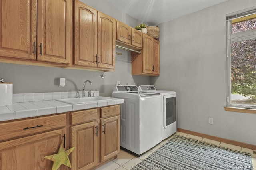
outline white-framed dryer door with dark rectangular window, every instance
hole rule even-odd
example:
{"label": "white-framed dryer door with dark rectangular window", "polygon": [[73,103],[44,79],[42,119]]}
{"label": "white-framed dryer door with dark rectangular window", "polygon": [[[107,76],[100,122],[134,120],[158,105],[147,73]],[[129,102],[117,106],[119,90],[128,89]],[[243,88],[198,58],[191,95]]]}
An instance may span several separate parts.
{"label": "white-framed dryer door with dark rectangular window", "polygon": [[164,128],[168,128],[172,123],[176,122],[176,95],[164,96]]}

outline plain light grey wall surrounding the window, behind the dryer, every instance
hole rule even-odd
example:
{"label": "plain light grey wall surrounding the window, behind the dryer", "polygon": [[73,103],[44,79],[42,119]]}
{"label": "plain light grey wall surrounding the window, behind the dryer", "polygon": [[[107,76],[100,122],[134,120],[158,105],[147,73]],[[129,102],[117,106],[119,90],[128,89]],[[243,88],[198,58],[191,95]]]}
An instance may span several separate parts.
{"label": "plain light grey wall surrounding the window, behind the dryer", "polygon": [[178,128],[256,144],[256,115],[224,110],[226,14],[253,6],[229,0],[159,25],[160,76],[150,83],[177,92]]}

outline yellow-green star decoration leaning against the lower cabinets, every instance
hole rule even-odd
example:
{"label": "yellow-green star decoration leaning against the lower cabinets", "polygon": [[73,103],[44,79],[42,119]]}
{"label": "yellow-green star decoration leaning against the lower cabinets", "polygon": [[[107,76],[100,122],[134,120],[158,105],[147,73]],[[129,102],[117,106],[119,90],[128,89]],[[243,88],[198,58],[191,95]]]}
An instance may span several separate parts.
{"label": "yellow-green star decoration leaning against the lower cabinets", "polygon": [[57,154],[45,156],[44,158],[53,161],[52,170],[57,170],[61,166],[61,164],[64,164],[69,168],[71,168],[71,164],[68,156],[74,150],[74,148],[75,147],[72,147],[69,150],[65,150],[63,147],[63,142],[61,142],[60,148]]}

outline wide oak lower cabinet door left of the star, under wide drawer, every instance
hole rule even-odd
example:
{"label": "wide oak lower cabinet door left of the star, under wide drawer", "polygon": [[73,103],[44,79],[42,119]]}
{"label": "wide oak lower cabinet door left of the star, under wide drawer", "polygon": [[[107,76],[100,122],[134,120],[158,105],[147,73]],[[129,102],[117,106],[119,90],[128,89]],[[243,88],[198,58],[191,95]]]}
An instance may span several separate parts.
{"label": "wide oak lower cabinet door left of the star, under wide drawer", "polygon": [[[58,152],[65,128],[0,143],[1,170],[50,170],[53,162],[45,159]],[[60,166],[61,170],[66,167]]]}

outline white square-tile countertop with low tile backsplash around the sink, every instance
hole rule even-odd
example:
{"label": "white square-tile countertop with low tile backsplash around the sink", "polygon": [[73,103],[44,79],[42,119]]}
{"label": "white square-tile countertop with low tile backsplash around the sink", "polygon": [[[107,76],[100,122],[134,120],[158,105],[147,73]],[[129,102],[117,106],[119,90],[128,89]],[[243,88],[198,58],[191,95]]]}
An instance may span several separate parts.
{"label": "white square-tile countertop with low tile backsplash around the sink", "polygon": [[[13,94],[13,103],[8,106],[0,106],[0,121],[21,119],[77,111],[95,107],[118,105],[124,103],[124,99],[113,98],[109,101],[93,101],[80,104],[68,104],[56,99],[73,98],[76,92],[53,92],[53,93],[19,93]],[[95,96],[98,96],[95,91]]]}

